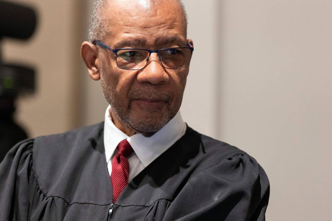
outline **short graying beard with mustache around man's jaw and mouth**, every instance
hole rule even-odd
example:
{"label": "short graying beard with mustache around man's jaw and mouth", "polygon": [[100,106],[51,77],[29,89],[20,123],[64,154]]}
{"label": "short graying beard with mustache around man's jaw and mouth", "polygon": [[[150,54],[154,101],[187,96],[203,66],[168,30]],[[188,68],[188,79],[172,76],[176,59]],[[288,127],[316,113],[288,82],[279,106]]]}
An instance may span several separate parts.
{"label": "short graying beard with mustache around man's jaw and mouth", "polygon": [[[103,70],[103,68],[101,67]],[[161,128],[163,128],[179,111],[182,102],[182,95],[179,99],[179,103],[175,110],[172,110],[170,107],[171,104],[171,96],[165,92],[161,92],[155,89],[153,86],[149,86],[148,88],[142,90],[133,90],[128,94],[128,104],[129,107],[125,107],[124,103],[122,103],[119,99],[117,99],[113,88],[110,86],[109,82],[104,78],[104,73],[101,73],[101,85],[103,89],[103,94],[108,103],[112,107],[112,111],[116,114],[116,116],[125,123],[129,128],[133,129],[141,133],[145,137],[151,137],[153,134],[158,132]],[[147,113],[155,113],[160,112],[161,115],[158,118],[145,118],[134,116],[131,111],[131,101],[135,98],[149,98],[149,99],[157,99],[162,100],[167,103],[167,111],[162,113],[161,110],[144,108],[143,110]]]}

